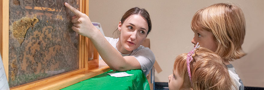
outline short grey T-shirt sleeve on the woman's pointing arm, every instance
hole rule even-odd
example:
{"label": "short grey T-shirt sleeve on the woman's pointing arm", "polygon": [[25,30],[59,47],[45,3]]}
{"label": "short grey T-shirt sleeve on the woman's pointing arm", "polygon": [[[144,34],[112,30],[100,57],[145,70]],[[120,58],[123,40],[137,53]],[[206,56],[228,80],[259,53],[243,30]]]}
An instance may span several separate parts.
{"label": "short grey T-shirt sleeve on the woman's pointing arm", "polygon": [[145,76],[148,75],[155,63],[154,53],[148,47],[145,47],[134,53],[132,56],[134,56],[140,63],[141,70],[144,72]]}

